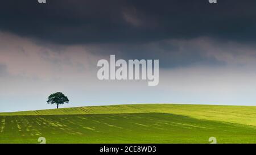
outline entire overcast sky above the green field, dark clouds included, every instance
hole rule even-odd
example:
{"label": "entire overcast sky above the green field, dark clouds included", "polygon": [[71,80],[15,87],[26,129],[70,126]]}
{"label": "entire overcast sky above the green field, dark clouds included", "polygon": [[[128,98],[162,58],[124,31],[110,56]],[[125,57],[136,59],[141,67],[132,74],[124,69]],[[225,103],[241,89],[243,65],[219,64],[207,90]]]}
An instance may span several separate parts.
{"label": "entire overcast sky above the green field, dark clouds included", "polygon": [[[256,1],[3,1],[0,112],[130,103],[256,106]],[[159,59],[159,85],[100,81],[110,55]]]}

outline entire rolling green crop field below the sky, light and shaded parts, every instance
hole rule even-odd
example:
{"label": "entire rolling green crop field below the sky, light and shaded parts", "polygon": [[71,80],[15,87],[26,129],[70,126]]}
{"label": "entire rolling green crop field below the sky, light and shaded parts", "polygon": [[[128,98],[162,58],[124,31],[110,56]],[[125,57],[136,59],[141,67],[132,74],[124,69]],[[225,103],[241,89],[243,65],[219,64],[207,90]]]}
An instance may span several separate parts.
{"label": "entire rolling green crop field below the sky, light and shaded parts", "polygon": [[255,106],[130,104],[0,113],[0,143],[256,143]]}

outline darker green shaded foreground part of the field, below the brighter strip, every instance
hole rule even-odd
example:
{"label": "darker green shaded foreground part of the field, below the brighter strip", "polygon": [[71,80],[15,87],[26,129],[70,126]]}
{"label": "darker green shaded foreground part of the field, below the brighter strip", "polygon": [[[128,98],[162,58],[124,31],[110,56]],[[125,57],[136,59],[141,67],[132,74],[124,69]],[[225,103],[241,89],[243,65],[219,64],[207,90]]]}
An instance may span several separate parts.
{"label": "darker green shaded foreground part of the field, below the brighter strip", "polygon": [[[3,122],[4,120],[4,122]],[[0,116],[0,143],[256,143],[249,125],[164,113]]]}

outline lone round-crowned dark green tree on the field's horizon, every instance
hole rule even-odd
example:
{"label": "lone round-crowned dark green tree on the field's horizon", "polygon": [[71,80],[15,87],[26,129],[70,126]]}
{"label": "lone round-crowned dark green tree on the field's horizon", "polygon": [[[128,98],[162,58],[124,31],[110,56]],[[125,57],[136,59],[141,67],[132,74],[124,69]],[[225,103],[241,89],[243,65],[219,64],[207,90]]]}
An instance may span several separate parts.
{"label": "lone round-crowned dark green tree on the field's horizon", "polygon": [[68,97],[66,97],[63,93],[57,92],[49,95],[47,103],[48,104],[57,104],[57,108],[59,108],[59,104],[68,103]]}

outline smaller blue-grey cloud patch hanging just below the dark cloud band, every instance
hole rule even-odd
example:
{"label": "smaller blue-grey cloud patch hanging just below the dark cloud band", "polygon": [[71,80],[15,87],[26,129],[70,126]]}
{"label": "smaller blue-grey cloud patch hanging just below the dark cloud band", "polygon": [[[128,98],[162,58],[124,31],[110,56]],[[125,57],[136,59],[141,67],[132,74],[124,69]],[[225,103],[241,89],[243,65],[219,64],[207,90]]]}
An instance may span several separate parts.
{"label": "smaller blue-grey cloud patch hanging just below the dark cloud band", "polygon": [[[204,47],[207,44],[207,47]],[[115,55],[116,59],[146,59],[159,60],[160,68],[179,68],[191,65],[223,66],[225,61],[217,60],[206,53],[216,51],[221,43],[215,43],[207,38],[195,40],[162,40],[146,44],[126,44],[118,46],[100,45],[101,48],[89,50],[106,56]],[[230,52],[228,47],[226,52]]]}

